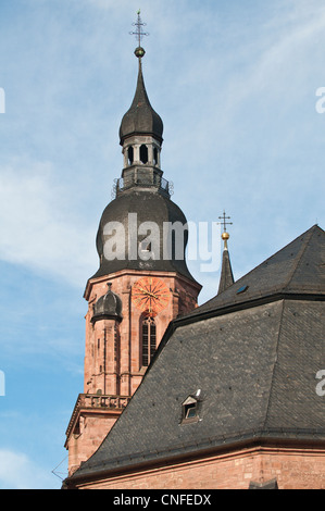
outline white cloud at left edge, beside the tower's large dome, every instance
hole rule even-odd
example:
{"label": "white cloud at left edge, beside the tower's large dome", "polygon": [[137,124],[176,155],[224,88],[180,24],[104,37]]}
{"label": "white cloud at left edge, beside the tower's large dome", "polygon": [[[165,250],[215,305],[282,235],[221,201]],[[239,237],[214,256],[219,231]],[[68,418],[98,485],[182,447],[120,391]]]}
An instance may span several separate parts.
{"label": "white cloud at left edge, beside the tower's large dome", "polygon": [[71,188],[50,163],[15,160],[0,175],[0,258],[80,285],[93,262],[95,234],[74,212]]}

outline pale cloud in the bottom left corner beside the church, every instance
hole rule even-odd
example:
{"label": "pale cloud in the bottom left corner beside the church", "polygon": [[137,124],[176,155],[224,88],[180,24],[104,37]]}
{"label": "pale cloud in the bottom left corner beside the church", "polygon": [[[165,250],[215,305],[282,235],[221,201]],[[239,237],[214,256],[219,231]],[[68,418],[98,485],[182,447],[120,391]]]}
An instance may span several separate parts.
{"label": "pale cloud in the bottom left corner beside the church", "polygon": [[53,479],[25,453],[0,449],[0,489],[48,489]]}

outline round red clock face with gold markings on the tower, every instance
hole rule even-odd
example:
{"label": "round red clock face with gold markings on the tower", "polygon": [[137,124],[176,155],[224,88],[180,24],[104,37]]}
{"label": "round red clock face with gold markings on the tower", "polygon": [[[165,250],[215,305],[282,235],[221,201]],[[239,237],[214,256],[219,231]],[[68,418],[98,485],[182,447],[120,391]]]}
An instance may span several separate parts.
{"label": "round red clock face with gold markings on the tower", "polygon": [[154,316],[165,309],[171,299],[171,291],[163,281],[157,277],[143,277],[132,289],[134,304],[148,315]]}

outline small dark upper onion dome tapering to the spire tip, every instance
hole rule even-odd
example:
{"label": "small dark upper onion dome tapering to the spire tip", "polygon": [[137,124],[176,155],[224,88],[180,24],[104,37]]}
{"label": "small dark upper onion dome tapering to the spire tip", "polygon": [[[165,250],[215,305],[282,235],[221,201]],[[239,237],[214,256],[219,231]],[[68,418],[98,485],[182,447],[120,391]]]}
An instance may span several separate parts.
{"label": "small dark upper onion dome tapering to the spire tip", "polygon": [[[140,63],[139,63],[140,64]],[[139,65],[136,94],[129,110],[122,119],[120,126],[120,144],[134,135],[151,135],[162,142],[163,122],[150,104],[141,70]]]}

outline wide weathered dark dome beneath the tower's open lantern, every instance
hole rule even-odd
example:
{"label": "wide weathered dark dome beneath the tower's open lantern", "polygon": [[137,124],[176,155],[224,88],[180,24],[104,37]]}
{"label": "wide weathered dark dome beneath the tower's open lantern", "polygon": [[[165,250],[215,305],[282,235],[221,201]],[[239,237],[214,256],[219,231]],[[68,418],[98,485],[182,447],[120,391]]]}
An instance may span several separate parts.
{"label": "wide weathered dark dome beneath the tower's open lantern", "polygon": [[[133,224],[134,219],[136,219],[136,224]],[[113,222],[118,223],[120,226],[122,225],[123,228],[121,230],[124,239],[121,240],[120,244],[116,238],[116,232],[113,233],[115,240],[117,240],[117,244],[120,245],[120,249],[116,249],[118,258],[109,260],[107,258],[104,246],[110,238],[112,239],[112,232],[110,235],[108,227],[110,225],[113,227]],[[164,258],[163,247],[166,242],[167,233],[170,235],[167,226],[176,222],[178,223],[178,227],[180,227],[180,236],[177,237],[177,252],[175,252],[175,237],[170,237],[168,239],[172,239],[172,257]],[[150,232],[150,224],[148,223],[152,223],[158,228],[154,242],[149,250],[151,253],[154,252],[155,259],[143,260],[139,257],[139,244],[148,236],[151,236],[151,234],[154,235],[153,232]],[[139,226],[141,224],[143,229],[147,227],[149,228],[149,234],[141,229],[141,232],[139,232]],[[100,258],[100,267],[93,277],[109,275],[120,270],[130,269],[178,272],[191,281],[195,281],[187,269],[185,259],[187,240],[187,220],[178,205],[157,191],[132,188],[129,191],[124,191],[117,196],[117,198],[110,202],[103,211],[97,234],[97,251]],[[160,247],[159,253],[157,253],[158,251],[155,249],[158,246]],[[175,257],[175,253],[177,258]]]}

